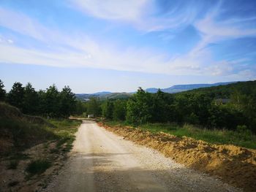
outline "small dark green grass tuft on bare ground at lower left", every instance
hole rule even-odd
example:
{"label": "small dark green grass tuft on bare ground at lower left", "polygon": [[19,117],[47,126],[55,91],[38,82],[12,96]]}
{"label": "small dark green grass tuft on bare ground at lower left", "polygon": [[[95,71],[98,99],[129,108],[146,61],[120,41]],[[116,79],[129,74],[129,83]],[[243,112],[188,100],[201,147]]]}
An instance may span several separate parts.
{"label": "small dark green grass tuft on bare ground at lower left", "polygon": [[29,165],[26,167],[26,172],[29,172],[29,174],[31,175],[41,174],[45,172],[45,170],[48,169],[50,166],[50,161],[47,161],[45,159],[38,159],[29,163]]}

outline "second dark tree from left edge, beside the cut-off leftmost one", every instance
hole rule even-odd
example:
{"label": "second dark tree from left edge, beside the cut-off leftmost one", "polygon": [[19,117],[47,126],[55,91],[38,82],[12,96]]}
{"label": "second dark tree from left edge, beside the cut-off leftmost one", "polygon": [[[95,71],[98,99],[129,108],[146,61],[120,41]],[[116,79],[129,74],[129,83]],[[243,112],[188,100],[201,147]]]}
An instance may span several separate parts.
{"label": "second dark tree from left edge, beside the cut-off leftmost one", "polygon": [[23,110],[23,98],[24,88],[20,82],[15,82],[7,95],[7,101],[20,110]]}

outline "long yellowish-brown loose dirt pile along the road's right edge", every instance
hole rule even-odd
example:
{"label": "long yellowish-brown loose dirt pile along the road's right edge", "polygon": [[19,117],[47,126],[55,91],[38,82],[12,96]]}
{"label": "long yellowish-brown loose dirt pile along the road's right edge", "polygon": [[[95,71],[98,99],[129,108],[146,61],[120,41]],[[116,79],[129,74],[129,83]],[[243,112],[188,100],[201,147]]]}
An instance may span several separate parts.
{"label": "long yellowish-brown loose dirt pile along the road's right edge", "polygon": [[98,124],[124,139],[159,150],[178,163],[217,175],[226,183],[244,188],[244,191],[256,191],[256,150],[235,145],[211,145],[163,132],[152,134],[139,128]]}

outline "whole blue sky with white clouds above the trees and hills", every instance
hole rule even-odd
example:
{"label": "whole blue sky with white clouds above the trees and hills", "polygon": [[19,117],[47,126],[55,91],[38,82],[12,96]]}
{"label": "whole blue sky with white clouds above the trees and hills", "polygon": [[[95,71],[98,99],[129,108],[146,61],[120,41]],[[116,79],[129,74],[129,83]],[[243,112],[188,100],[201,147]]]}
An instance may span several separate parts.
{"label": "whole blue sky with white clouds above the trees and hills", "polygon": [[256,78],[256,1],[0,0],[0,79],[75,93]]}

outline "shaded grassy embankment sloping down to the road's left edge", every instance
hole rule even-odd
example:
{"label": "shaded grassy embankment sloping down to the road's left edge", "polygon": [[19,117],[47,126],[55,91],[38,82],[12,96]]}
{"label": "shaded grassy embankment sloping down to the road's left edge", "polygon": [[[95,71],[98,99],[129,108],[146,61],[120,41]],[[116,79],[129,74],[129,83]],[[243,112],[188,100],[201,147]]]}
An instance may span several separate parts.
{"label": "shaded grassy embankment sloping down to the road's left edge", "polygon": [[18,183],[26,183],[31,177],[40,180],[39,175],[46,169],[56,164],[61,166],[72,149],[80,123],[80,120],[45,120],[23,115],[16,107],[0,103],[0,166],[12,169],[17,175],[24,173],[22,177],[12,177],[9,187],[18,190]]}

